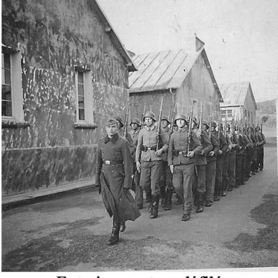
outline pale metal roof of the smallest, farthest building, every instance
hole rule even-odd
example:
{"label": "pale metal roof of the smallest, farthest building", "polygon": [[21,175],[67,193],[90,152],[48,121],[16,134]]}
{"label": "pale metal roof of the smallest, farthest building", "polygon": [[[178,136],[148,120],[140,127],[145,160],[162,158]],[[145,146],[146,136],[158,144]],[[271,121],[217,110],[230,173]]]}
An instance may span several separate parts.
{"label": "pale metal roof of the smallest, farthest building", "polygon": [[220,106],[243,106],[250,82],[225,83],[220,85],[224,102]]}

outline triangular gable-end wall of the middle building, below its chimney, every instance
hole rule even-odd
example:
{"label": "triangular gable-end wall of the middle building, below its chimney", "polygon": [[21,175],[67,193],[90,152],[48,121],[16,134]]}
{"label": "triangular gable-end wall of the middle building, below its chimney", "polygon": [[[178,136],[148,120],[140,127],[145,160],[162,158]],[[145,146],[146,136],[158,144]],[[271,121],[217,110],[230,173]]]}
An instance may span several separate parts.
{"label": "triangular gable-end wall of the middle building, below its chimney", "polygon": [[218,119],[219,99],[202,55],[197,58],[181,88],[178,89],[177,99],[178,111],[186,115],[190,113],[192,100],[197,101],[194,113],[197,118],[199,118],[203,99],[204,120],[208,120],[212,102],[212,119]]}

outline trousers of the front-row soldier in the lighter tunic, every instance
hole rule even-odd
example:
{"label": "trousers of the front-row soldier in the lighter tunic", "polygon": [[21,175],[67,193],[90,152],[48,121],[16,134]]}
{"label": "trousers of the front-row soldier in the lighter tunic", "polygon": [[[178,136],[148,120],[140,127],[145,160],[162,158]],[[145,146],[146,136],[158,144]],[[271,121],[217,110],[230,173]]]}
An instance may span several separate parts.
{"label": "trousers of the front-row soldier in the lighter tunic", "polygon": [[161,194],[162,161],[141,161],[140,186],[146,195],[158,196]]}

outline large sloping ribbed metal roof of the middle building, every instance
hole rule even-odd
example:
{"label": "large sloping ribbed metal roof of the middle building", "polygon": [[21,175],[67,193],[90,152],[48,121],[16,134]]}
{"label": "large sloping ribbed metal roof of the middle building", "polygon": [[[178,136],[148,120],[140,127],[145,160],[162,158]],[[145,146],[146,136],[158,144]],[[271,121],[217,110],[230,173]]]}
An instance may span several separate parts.
{"label": "large sloping ribbed metal roof of the middle building", "polygon": [[129,92],[179,88],[202,49],[188,54],[185,49],[139,54],[133,59],[137,72],[129,74]]}

